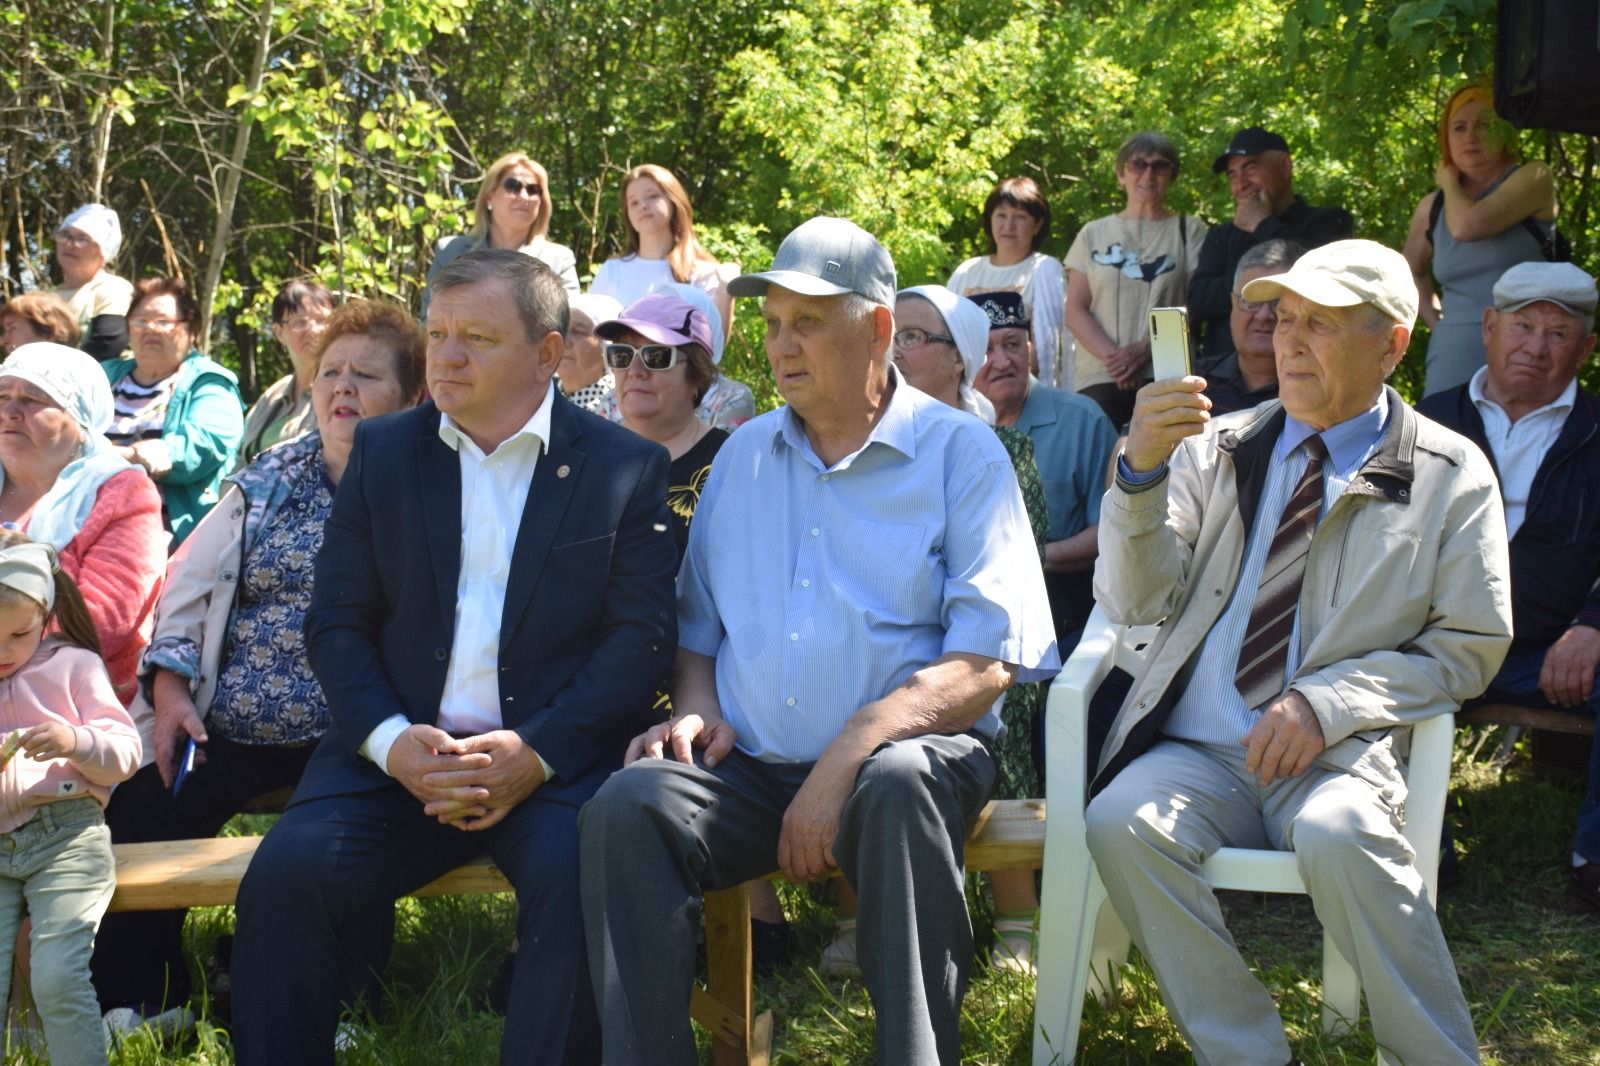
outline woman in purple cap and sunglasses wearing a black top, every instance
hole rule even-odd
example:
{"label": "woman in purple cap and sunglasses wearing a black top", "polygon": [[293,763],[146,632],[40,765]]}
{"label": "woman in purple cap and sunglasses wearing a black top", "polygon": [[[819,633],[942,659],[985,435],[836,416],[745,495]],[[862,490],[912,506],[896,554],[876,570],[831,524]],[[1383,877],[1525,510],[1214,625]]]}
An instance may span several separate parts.
{"label": "woman in purple cap and sunglasses wearing a black top", "polygon": [[616,376],[622,424],[659,443],[672,458],[667,511],[682,562],[712,456],[728,439],[726,431],[694,416],[701,397],[717,381],[710,322],[677,293],[651,293],[602,322],[595,333],[606,341],[605,363]]}

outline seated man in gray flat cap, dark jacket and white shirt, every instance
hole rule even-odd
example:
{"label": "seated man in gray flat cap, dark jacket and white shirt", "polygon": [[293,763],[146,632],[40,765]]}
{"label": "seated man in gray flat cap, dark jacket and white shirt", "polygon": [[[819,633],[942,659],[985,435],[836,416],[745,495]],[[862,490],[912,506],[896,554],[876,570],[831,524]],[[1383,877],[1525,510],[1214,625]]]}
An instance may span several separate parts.
{"label": "seated man in gray flat cap, dark jacket and white shirt", "polygon": [[[1600,400],[1578,389],[1595,349],[1595,280],[1571,262],[1520,262],[1483,312],[1486,365],[1422,400],[1494,464],[1510,536],[1517,634],[1488,699],[1600,711]],[[1600,909],[1600,744],[1578,808],[1573,893]]]}

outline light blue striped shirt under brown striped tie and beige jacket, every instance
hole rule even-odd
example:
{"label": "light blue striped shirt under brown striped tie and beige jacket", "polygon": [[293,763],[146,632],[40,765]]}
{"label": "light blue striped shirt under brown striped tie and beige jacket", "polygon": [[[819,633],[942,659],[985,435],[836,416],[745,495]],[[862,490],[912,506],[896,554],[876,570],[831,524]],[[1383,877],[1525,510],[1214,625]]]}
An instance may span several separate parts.
{"label": "light blue striped shirt under brown striped tie and beige jacket", "polygon": [[[1382,443],[1387,419],[1389,399],[1387,394],[1379,392],[1378,403],[1366,411],[1323,431],[1322,443],[1328,448],[1328,461],[1322,464],[1323,515],[1328,514],[1333,501],[1344,495],[1344,490],[1350,487],[1350,479]],[[1202,744],[1237,744],[1261,715],[1258,707],[1245,706],[1245,698],[1238,695],[1238,685],[1234,683],[1234,675],[1238,672],[1238,648],[1245,643],[1245,629],[1250,626],[1250,611],[1256,605],[1261,570],[1267,565],[1272,536],[1283,517],[1283,507],[1294,493],[1294,485],[1310,461],[1301,445],[1314,432],[1317,431],[1310,426],[1293,416],[1285,416],[1283,432],[1278,434],[1277,447],[1272,450],[1272,466],[1267,469],[1267,482],[1256,507],[1256,525],[1245,544],[1245,559],[1238,570],[1238,584],[1234,586],[1234,599],[1229,600],[1227,610],[1216,619],[1205,643],[1200,645],[1200,658],[1195,661],[1189,685],[1178,698],[1166,725],[1162,727],[1166,736]],[[1318,515],[1320,520],[1322,515]],[[1296,611],[1285,677],[1293,677],[1298,667],[1299,613]]]}

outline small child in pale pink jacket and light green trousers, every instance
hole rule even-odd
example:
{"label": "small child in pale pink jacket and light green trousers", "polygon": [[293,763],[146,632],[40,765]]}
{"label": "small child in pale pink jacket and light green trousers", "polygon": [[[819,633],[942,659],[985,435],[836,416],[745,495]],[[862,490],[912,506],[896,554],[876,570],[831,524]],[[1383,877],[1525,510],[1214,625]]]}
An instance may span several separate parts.
{"label": "small child in pale pink jacket and light green trousers", "polygon": [[139,768],[139,733],[54,549],[13,531],[0,531],[0,973],[26,911],[51,1063],[106,1063],[90,983],[117,882],[102,810]]}

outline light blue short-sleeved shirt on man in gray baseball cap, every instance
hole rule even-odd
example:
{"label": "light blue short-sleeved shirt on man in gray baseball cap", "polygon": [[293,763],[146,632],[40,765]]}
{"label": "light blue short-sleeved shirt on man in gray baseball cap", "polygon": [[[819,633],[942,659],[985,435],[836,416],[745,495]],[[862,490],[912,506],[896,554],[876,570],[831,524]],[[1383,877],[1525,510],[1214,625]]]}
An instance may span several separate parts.
{"label": "light blue short-sleeved shirt on man in gray baseball cap", "polygon": [[[906,384],[824,466],[789,408],[717,453],[678,573],[678,645],[717,658],[739,747],[813,762],[858,707],[950,651],[1061,666],[1038,547],[994,431]],[[998,704],[978,723],[994,736]]]}

